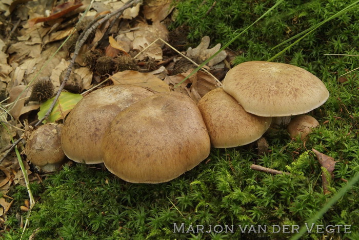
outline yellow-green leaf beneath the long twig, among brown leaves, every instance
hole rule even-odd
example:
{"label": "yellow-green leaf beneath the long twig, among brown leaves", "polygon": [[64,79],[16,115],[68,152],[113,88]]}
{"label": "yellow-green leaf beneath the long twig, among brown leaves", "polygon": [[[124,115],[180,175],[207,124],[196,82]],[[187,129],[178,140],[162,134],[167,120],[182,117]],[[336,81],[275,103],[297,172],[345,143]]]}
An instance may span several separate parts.
{"label": "yellow-green leaf beneath the long twig, among brown leaves", "polygon": [[[38,119],[42,119],[49,110],[55,97],[48,99],[45,103],[41,104],[40,111],[37,113]],[[52,109],[48,122],[53,123],[59,119],[64,119],[65,116],[75,107],[75,105],[83,98],[81,94],[74,94],[71,92],[62,92]],[[47,121],[44,120],[43,123]]]}

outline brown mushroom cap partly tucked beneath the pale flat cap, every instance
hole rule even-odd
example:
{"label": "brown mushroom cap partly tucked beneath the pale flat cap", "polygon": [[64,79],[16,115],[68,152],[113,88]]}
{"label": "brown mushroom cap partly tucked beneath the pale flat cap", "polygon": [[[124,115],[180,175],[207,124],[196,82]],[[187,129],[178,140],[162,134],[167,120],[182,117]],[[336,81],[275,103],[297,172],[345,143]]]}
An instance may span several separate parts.
{"label": "brown mushroom cap partly tucked beneath the pale flat cap", "polygon": [[215,148],[231,148],[256,141],[269,128],[271,117],[246,112],[223,88],[214,89],[198,102],[206,123],[211,144]]}

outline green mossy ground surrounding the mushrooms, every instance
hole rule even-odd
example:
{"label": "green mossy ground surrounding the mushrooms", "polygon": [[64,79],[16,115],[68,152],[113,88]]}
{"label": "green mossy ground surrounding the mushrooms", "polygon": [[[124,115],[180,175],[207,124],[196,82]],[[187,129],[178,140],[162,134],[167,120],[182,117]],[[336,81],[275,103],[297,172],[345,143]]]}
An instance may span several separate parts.
{"label": "green mossy ground surrounding the mushrooms", "polygon": [[[209,35],[226,43],[269,9],[275,1],[186,0],[177,5],[173,27],[189,26],[189,41]],[[235,64],[266,61],[285,46],[289,37],[323,21],[354,1],[285,1],[235,41],[230,48],[242,52]],[[33,184],[38,202],[25,237],[36,239],[254,239],[288,238],[288,233],[173,233],[180,225],[302,225],[359,170],[358,120],[359,10],[348,12],[309,34],[275,61],[302,67],[323,80],[330,97],[310,112],[321,127],[307,141],[292,141],[285,130],[266,135],[271,152],[258,156],[255,148],[212,149],[210,161],[157,185],[130,184],[109,172],[75,164]],[[323,194],[322,169],[310,149],[335,158],[330,194]],[[291,175],[271,175],[249,167],[252,163]],[[26,189],[12,191],[15,202],[8,215],[7,239],[19,239],[22,230],[16,212],[27,198]],[[316,224],[352,225],[351,233],[326,233],[334,239],[359,239],[359,186],[356,184]],[[23,213],[24,217],[26,216]],[[322,238],[322,233],[305,238]]]}

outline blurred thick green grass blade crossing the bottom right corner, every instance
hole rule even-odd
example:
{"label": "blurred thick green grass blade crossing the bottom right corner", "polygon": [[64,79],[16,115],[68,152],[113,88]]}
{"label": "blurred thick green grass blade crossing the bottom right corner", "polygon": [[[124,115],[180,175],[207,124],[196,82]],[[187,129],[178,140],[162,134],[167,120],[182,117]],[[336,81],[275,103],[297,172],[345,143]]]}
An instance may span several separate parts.
{"label": "blurred thick green grass blade crossing the bottom right corner", "polygon": [[[306,221],[306,223],[309,226],[314,224],[320,217],[323,216],[324,213],[326,213],[329,210],[331,206],[333,206],[336,203],[336,201],[338,201],[339,198],[341,198],[347,191],[349,191],[350,188],[358,181],[359,181],[359,173],[354,175],[350,179],[350,181],[344,187],[342,187],[332,198],[330,198],[329,202],[326,205],[324,205],[321,210],[317,211],[313,218],[311,218],[309,221]],[[305,226],[302,226],[300,228],[300,231],[294,236],[292,236],[290,239],[291,240],[300,239],[306,232],[307,232],[307,228]]]}

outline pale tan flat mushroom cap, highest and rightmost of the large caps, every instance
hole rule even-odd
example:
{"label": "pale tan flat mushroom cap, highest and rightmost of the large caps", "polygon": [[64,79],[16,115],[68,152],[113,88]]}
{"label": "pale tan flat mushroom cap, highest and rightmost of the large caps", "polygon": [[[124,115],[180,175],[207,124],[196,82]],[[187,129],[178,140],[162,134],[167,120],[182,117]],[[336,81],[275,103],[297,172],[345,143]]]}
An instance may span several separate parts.
{"label": "pale tan flat mushroom cap, highest and rightmost of the large caps", "polygon": [[329,92],[310,72],[288,64],[246,62],[227,73],[223,89],[258,116],[290,116],[324,104]]}

